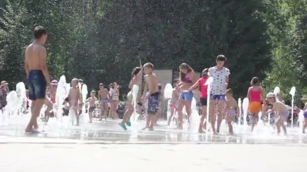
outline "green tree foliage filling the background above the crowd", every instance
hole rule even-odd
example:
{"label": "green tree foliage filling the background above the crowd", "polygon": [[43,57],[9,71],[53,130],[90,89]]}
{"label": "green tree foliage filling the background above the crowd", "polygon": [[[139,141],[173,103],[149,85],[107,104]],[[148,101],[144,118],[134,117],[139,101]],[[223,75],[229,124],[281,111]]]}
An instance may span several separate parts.
{"label": "green tree foliage filling the background above the crowd", "polygon": [[[307,82],[306,1],[7,0],[0,3],[0,75],[25,81],[24,50],[34,24],[48,28],[48,68],[54,79],[127,83],[139,59],[155,68],[194,70],[228,57],[230,87],[245,97],[258,76],[267,91]],[[298,13],[299,11],[299,13]]]}

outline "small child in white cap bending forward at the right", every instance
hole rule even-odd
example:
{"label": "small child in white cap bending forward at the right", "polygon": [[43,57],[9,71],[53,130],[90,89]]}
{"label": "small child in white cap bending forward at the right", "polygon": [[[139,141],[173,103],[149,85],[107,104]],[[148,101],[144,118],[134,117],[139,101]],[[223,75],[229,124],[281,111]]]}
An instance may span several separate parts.
{"label": "small child in white cap bending forward at the right", "polygon": [[268,99],[269,103],[273,105],[273,108],[271,110],[269,110],[268,113],[276,112],[276,115],[278,115],[277,118],[275,117],[277,134],[280,134],[280,127],[282,127],[283,130],[284,130],[284,133],[286,135],[287,129],[286,129],[284,122],[287,120],[287,118],[289,116],[289,111],[288,111],[287,106],[284,103],[277,100],[274,93],[268,93],[267,99]]}

